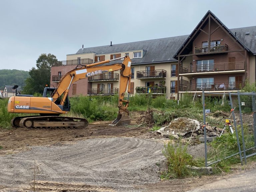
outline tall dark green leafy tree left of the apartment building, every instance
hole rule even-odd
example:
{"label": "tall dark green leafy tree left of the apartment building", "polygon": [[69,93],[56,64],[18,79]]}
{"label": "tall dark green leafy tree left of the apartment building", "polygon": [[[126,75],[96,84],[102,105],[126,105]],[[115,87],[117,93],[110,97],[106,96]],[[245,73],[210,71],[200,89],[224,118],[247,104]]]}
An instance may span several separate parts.
{"label": "tall dark green leafy tree left of the apartment building", "polygon": [[26,79],[26,86],[24,87],[24,94],[43,93],[45,85],[50,84],[51,66],[57,62],[55,55],[45,53],[41,54],[36,60],[36,67],[29,70],[30,78]]}

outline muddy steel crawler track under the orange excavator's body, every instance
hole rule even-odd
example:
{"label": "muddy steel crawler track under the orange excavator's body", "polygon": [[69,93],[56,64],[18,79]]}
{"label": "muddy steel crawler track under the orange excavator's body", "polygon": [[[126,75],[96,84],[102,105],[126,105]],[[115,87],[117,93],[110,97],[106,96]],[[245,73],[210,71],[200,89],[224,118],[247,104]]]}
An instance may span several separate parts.
{"label": "muddy steel crawler track under the orange excavator's body", "polygon": [[83,129],[88,124],[88,121],[83,118],[60,116],[26,116],[12,119],[12,126],[19,128]]}

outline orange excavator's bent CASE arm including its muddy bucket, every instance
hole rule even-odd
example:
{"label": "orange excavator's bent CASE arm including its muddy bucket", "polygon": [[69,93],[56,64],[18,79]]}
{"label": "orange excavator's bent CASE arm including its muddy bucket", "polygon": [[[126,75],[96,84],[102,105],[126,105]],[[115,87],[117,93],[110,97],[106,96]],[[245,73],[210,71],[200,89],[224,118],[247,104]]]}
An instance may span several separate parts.
{"label": "orange excavator's bent CASE arm including its muddy bucket", "polygon": [[[112,60],[117,60],[124,58],[122,63],[116,63],[112,65],[103,65],[109,63]],[[127,110],[129,101],[124,100],[125,92],[130,93],[130,81],[131,81],[131,60],[128,56],[121,57],[112,60],[106,60],[98,63],[88,64],[88,65],[78,65],[75,69],[69,71],[64,75],[57,85],[56,90],[52,94],[53,102],[57,102],[59,98],[61,101],[59,105],[64,105],[64,101],[69,93],[70,85],[80,79],[88,78],[90,76],[99,75],[111,71],[120,70],[120,80],[119,80],[119,97],[118,97],[118,117],[115,119],[112,126],[127,125],[130,124],[131,120],[129,118],[129,111]]]}

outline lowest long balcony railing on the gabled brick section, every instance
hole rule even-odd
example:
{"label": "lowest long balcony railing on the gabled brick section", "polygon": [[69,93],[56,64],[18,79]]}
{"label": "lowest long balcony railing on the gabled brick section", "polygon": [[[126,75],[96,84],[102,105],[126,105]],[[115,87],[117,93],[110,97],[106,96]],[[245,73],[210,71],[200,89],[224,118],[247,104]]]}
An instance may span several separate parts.
{"label": "lowest long balcony railing on the gabled brick section", "polygon": [[180,91],[223,91],[223,90],[240,90],[244,87],[244,82],[228,83],[191,83],[181,84]]}

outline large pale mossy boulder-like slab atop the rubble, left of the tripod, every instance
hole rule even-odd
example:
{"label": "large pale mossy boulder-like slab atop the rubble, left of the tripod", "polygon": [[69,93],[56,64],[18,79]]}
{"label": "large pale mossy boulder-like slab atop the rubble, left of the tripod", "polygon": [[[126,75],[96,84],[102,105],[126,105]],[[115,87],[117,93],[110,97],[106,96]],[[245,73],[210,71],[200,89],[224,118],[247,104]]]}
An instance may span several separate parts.
{"label": "large pale mossy boulder-like slab atop the rubble, left of the tripod", "polygon": [[200,129],[199,121],[186,117],[179,117],[171,121],[170,126],[164,129],[165,132],[169,131],[172,135],[185,136],[187,133],[191,133]]}

